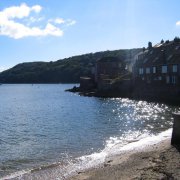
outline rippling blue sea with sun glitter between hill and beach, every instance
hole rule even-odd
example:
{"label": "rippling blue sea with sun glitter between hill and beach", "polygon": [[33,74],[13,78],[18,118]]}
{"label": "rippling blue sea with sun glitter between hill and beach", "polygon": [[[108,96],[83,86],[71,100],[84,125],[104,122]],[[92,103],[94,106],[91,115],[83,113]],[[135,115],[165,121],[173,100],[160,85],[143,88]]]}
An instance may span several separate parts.
{"label": "rippling blue sea with sun glitter between hill and beach", "polygon": [[0,178],[47,164],[58,164],[61,169],[77,157],[117,142],[158,134],[172,127],[171,113],[179,110],[165,104],[64,91],[71,87],[0,86]]}

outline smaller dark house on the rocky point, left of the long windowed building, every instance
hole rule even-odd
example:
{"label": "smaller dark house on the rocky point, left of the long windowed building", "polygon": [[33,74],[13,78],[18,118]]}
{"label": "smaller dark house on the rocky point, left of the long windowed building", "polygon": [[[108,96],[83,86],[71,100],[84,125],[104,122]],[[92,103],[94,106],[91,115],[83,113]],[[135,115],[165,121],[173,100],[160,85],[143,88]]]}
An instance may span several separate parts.
{"label": "smaller dark house on the rocky point, left of the long windowed building", "polygon": [[92,77],[80,77],[80,89],[84,91],[97,88],[108,90],[112,88],[112,80],[125,72],[125,62],[116,57],[104,57],[92,67]]}

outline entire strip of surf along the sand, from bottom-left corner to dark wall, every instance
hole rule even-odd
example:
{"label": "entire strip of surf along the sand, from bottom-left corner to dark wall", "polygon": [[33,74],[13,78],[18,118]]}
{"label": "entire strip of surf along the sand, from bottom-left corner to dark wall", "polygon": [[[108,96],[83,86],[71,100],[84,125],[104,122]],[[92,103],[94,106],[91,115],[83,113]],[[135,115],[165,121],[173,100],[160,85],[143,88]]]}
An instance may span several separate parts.
{"label": "entire strip of surf along the sand, from bottom-left corner to dark wall", "polygon": [[[146,150],[146,147],[152,144],[158,144],[162,140],[170,138],[172,129],[166,130],[158,135],[150,135],[148,133],[140,134],[140,132],[127,134],[125,137],[110,137],[106,141],[105,148],[91,155],[81,156],[75,161],[69,160],[67,164],[54,163],[41,166],[27,171],[19,171],[12,175],[3,177],[5,179],[32,179],[35,177],[39,180],[43,179],[66,179],[78,172],[83,172],[90,168],[102,166],[105,160],[111,156],[126,153],[128,151]],[[25,178],[28,177],[28,178]]]}

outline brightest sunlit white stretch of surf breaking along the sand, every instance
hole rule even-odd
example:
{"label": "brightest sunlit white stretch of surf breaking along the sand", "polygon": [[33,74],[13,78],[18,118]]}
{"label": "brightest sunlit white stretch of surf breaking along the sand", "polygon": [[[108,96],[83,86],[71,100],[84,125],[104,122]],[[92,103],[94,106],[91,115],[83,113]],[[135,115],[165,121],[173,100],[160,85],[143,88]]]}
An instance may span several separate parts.
{"label": "brightest sunlit white stretch of surf breaking along the sand", "polygon": [[[80,161],[69,167],[67,169],[68,173],[65,174],[65,177],[74,174],[75,172],[85,171],[90,168],[96,168],[101,166],[106,159],[111,156],[126,153],[128,151],[139,151],[146,150],[146,147],[149,147],[152,144],[158,144],[162,140],[170,138],[172,134],[172,129],[166,130],[158,135],[150,135],[148,133],[139,134],[139,132],[130,134],[127,137],[111,137],[106,142],[105,148],[99,153],[93,153],[91,155],[86,155],[78,158]],[[132,139],[134,135],[134,138]],[[113,141],[112,141],[113,140]]]}

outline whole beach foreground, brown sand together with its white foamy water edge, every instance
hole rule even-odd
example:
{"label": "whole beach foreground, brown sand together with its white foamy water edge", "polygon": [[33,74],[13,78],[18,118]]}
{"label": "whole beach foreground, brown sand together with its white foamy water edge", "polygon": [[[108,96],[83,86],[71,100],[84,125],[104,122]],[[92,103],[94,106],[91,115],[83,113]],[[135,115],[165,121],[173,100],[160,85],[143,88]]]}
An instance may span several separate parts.
{"label": "whole beach foreground, brown sand together with its white foamy water edge", "polygon": [[[21,171],[4,179],[126,180],[180,179],[180,154],[171,146],[172,129],[100,153],[82,156],[81,163],[55,163]],[[65,170],[65,171],[64,171]],[[1,178],[0,178],[1,179]]]}

